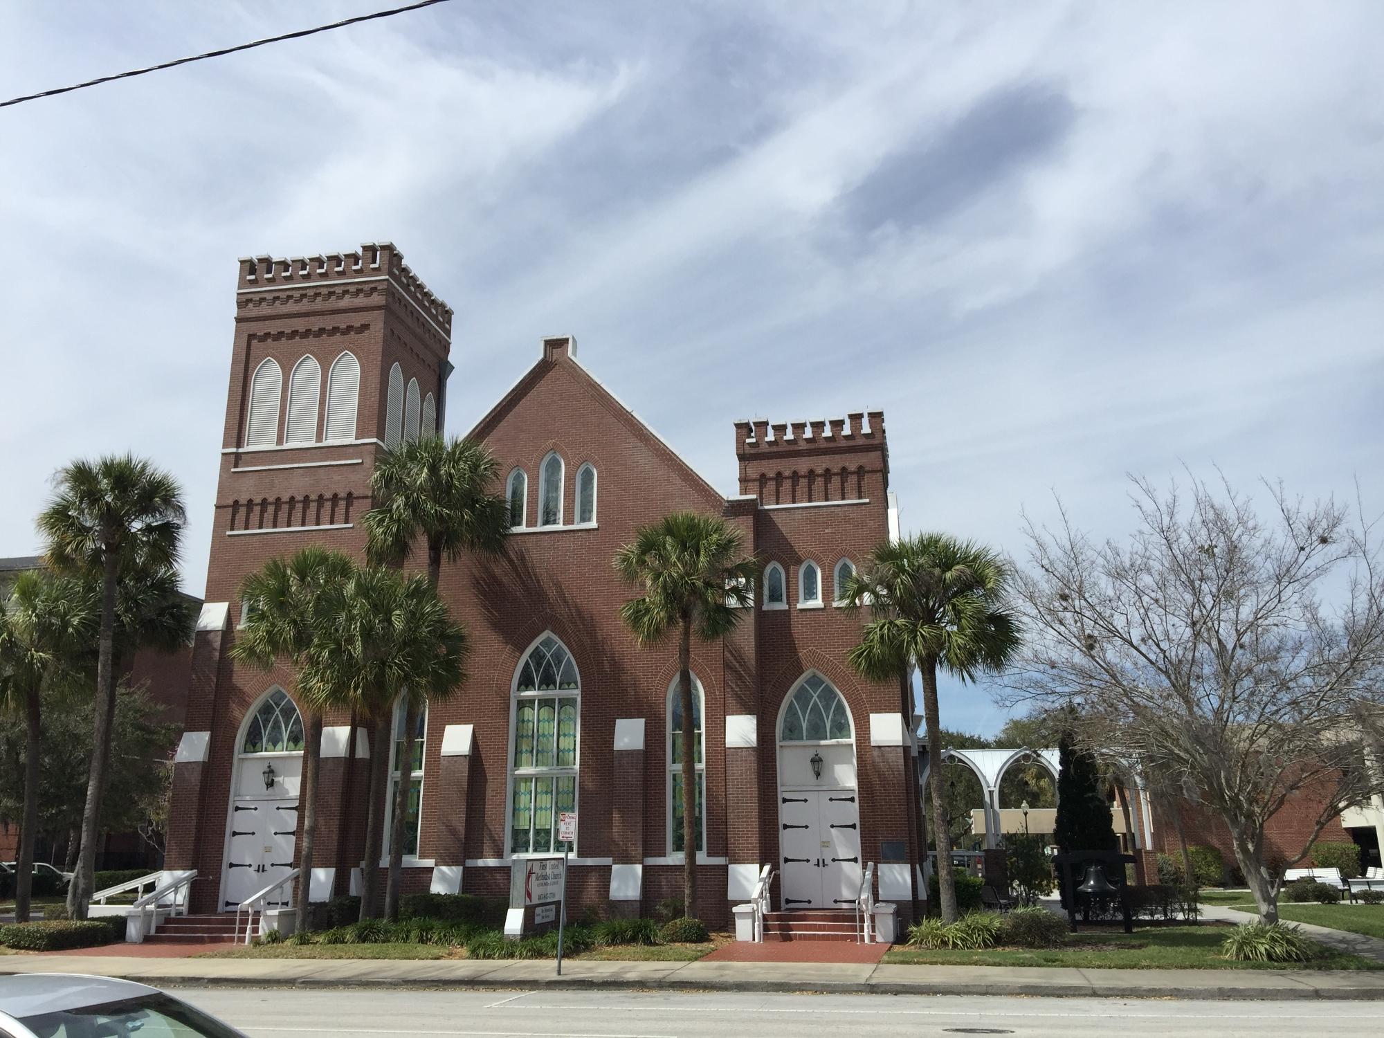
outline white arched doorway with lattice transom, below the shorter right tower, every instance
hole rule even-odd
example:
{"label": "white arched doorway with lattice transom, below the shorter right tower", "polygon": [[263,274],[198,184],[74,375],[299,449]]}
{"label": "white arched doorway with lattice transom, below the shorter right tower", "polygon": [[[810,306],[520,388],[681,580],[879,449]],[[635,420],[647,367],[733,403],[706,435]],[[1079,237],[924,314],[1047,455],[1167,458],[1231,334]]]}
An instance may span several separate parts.
{"label": "white arched doorway with lattice transom, below the shorter right tower", "polygon": [[782,908],[850,908],[861,884],[855,727],[846,699],[808,671],[778,718]]}

